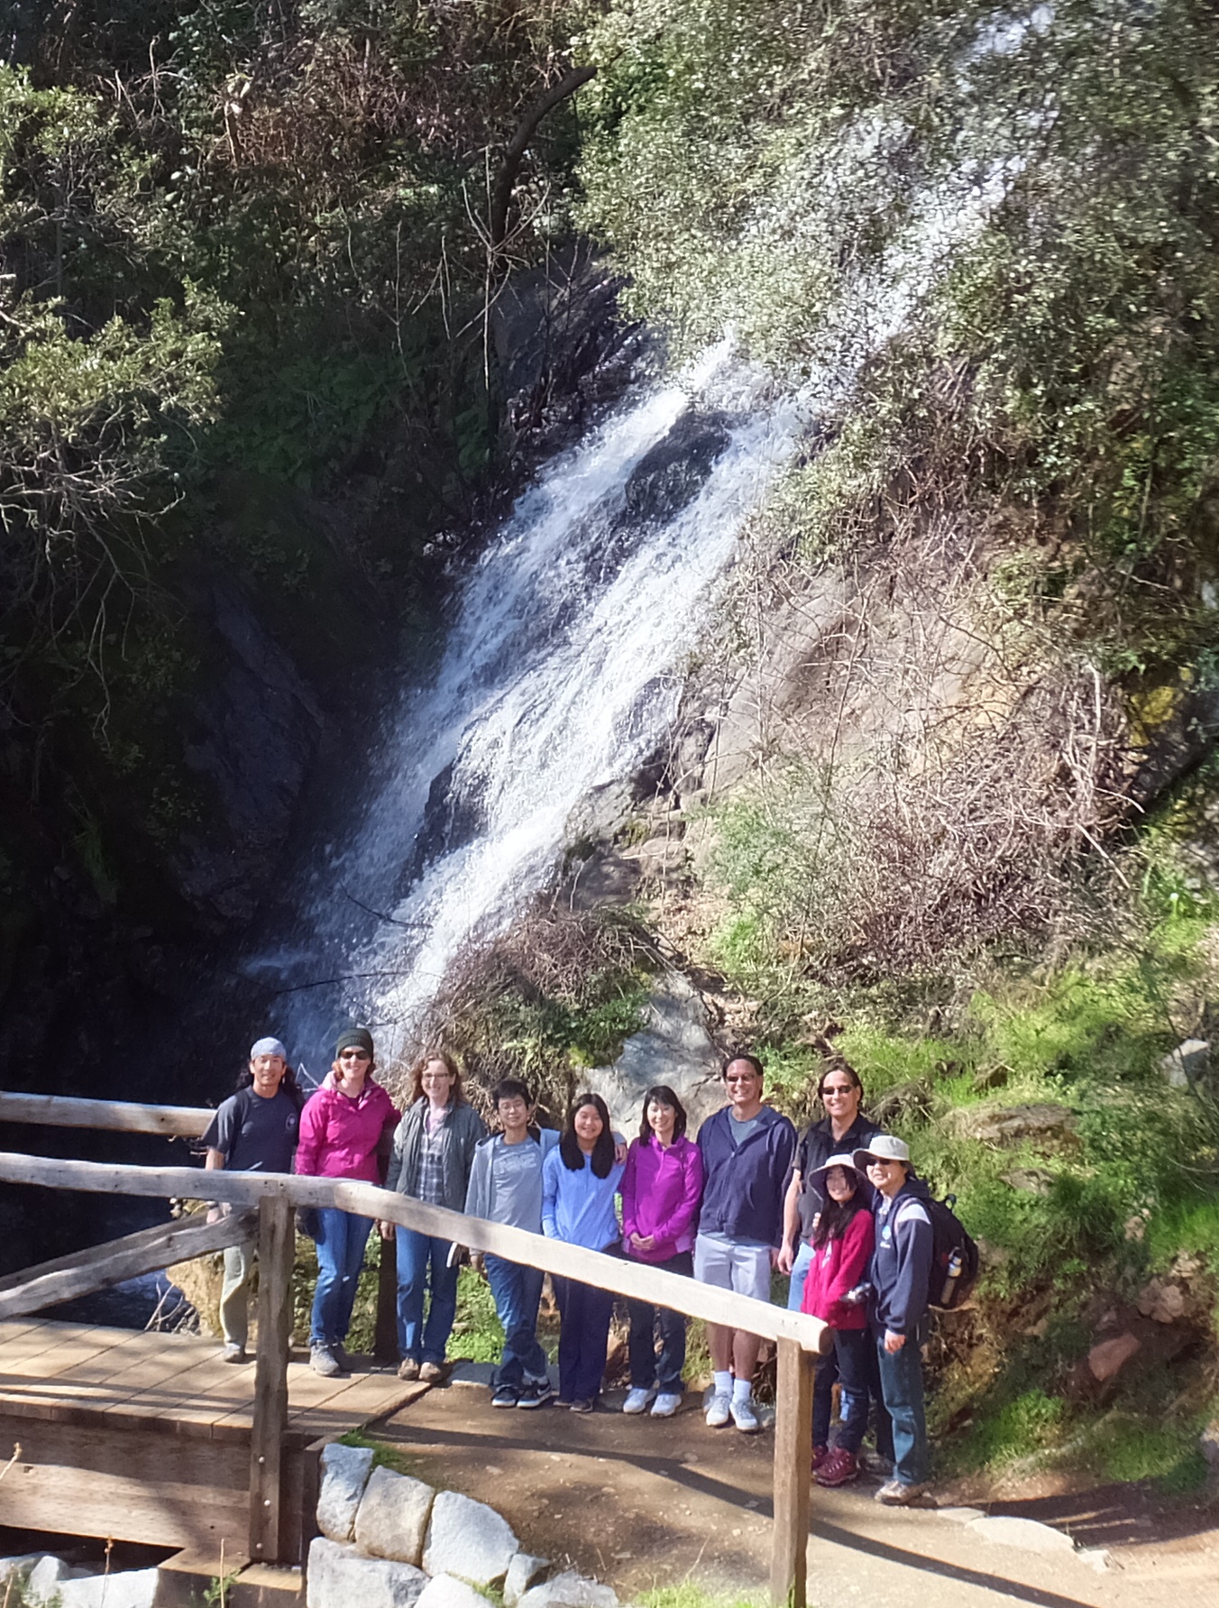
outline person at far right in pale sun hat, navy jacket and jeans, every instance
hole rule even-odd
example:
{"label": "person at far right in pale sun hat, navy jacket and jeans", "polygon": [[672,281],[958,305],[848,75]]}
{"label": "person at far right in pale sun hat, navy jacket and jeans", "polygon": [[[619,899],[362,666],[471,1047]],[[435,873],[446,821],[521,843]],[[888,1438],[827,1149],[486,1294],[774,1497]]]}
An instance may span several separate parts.
{"label": "person at far right in pale sun hat, navy jacket and jeans", "polygon": [[880,1384],[893,1418],[893,1479],[876,1502],[917,1505],[926,1491],[928,1444],[923,1409],[923,1343],[931,1288],[931,1217],[926,1185],[910,1171],[904,1140],[876,1134],[857,1150],[856,1166],[876,1190],[876,1248],[872,1253],[872,1331]]}

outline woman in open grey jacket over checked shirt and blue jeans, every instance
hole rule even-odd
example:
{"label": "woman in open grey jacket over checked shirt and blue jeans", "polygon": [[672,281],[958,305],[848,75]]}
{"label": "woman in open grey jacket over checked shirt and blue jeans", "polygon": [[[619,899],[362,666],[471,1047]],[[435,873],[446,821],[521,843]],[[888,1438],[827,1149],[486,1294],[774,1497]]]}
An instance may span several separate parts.
{"label": "woman in open grey jacket over checked shirt and blue jeans", "polygon": [[[407,1114],[394,1135],[386,1188],[431,1206],[465,1211],[474,1145],[486,1124],[462,1095],[457,1061],[444,1050],[429,1050],[415,1068]],[[457,1317],[457,1267],[449,1265],[452,1245],[413,1229],[381,1224],[386,1238],[397,1238],[397,1343],[399,1376],[437,1381],[445,1376],[444,1352]],[[423,1320],[423,1298],[431,1264],[431,1306]]]}

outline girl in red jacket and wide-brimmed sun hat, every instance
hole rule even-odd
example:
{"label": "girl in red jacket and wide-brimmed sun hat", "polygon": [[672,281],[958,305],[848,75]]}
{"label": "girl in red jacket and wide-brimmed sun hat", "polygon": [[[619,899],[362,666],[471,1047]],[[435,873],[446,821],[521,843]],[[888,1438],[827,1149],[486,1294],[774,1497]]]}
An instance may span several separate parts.
{"label": "girl in red jacket and wide-brimmed sun hat", "polygon": [[[817,1368],[812,1393],[812,1468],[819,1486],[844,1486],[859,1475],[859,1447],[868,1421],[868,1307],[860,1296],[872,1262],[872,1185],[851,1156],[830,1156],[809,1179],[825,1198],[811,1235],[812,1262],[801,1312],[835,1331],[841,1381],[838,1442],[828,1450],[833,1370]],[[825,1383],[822,1383],[825,1381]]]}

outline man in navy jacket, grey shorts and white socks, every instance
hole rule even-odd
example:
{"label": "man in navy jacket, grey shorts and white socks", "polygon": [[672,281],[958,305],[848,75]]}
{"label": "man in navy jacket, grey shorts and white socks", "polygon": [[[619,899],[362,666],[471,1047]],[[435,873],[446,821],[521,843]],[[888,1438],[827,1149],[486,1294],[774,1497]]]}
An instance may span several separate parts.
{"label": "man in navy jacket, grey shorts and white socks", "polygon": [[[783,1193],[796,1129],[762,1105],[762,1063],[735,1055],[724,1068],[729,1103],[698,1130],[703,1153],[703,1208],[695,1240],[695,1278],[770,1299],[770,1269],[783,1240]],[[732,1420],[746,1434],[761,1430],[753,1405],[757,1336],[708,1323],[716,1389],[708,1407],[712,1430]]]}

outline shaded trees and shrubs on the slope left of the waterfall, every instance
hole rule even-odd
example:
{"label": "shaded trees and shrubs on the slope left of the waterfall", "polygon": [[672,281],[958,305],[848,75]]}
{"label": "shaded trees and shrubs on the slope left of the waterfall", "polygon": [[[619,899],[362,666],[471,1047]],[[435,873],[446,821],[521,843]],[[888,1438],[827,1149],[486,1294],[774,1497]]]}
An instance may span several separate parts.
{"label": "shaded trees and shrubs on the slope left of the waterfall", "polygon": [[[502,468],[489,307],[563,228],[569,108],[519,159],[497,240],[489,185],[566,34],[552,5],[482,0],[114,0],[21,8],[14,27],[8,764],[35,767],[35,794],[39,764],[76,786],[111,854],[132,825],[156,854],[209,807],[179,741],[209,674],[199,577],[233,576],[310,672],[362,662],[391,613],[407,648],[428,640],[428,544]],[[354,470],[376,492],[343,505],[336,545],[325,508]],[[101,883],[109,904],[113,867]]]}

